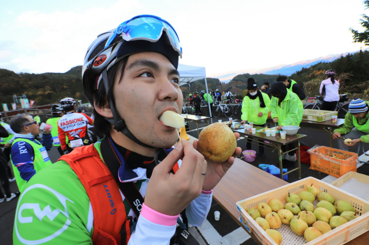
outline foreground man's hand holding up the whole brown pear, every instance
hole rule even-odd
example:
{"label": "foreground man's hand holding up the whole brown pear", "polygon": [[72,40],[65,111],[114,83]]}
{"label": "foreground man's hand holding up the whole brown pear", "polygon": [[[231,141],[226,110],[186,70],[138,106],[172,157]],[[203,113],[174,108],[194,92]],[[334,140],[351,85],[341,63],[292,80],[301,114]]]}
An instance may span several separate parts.
{"label": "foreground man's hand holding up the whole brown pear", "polygon": [[[236,139],[240,137],[239,133],[235,133]],[[194,141],[194,147],[197,149],[198,141]],[[220,181],[220,179],[224,176],[224,174],[228,171],[230,167],[232,167],[235,157],[240,155],[242,152],[242,149],[240,147],[237,147],[235,150],[235,154],[233,156],[230,156],[227,161],[225,162],[213,162],[209,161],[207,165],[204,185],[202,187],[202,190],[204,191],[211,191],[217,183]]]}

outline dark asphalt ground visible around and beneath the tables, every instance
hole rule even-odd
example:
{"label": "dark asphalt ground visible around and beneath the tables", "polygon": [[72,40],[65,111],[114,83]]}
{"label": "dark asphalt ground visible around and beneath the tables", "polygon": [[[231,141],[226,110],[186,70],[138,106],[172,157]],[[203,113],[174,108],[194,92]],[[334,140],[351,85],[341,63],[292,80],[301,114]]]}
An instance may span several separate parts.
{"label": "dark asphalt ground visible around and beneath the tables", "polygon": [[[218,119],[222,119],[222,121],[228,120],[228,118],[225,118],[225,117],[218,117],[218,118],[213,117],[213,118],[210,118],[209,124],[217,122]],[[235,121],[241,121],[241,120],[239,119]],[[198,135],[196,132],[195,123],[191,124],[191,128],[195,130],[193,130],[192,132],[188,132],[188,134],[197,138]],[[200,129],[200,132],[201,132],[201,129]],[[306,130],[306,129],[300,129],[299,133],[307,135],[307,137],[304,138],[303,141],[301,142],[304,145],[308,145],[310,147],[315,146],[315,145],[329,146],[328,133],[321,132],[321,131],[315,131],[315,130]],[[246,141],[243,141],[243,140],[238,141],[238,146],[241,147],[242,150],[246,149],[245,145],[246,145]],[[337,142],[333,141],[333,147],[338,148]],[[252,145],[252,149],[257,151],[257,145]],[[353,152],[356,152],[356,150],[357,148],[352,149]],[[365,149],[365,150],[369,150],[369,149]],[[52,148],[48,153],[49,153],[49,156],[52,162],[56,162],[60,157],[60,154],[56,148]],[[239,156],[239,157],[242,157],[242,156]],[[275,166],[279,166],[278,153],[276,153],[276,151],[272,152],[271,149],[265,148],[265,153],[262,158],[256,158],[254,162],[250,162],[250,163],[245,162],[245,164],[252,164],[253,166],[256,166],[256,167],[258,167],[259,164],[273,164]],[[286,166],[293,167],[293,166],[296,166],[296,164],[297,163],[295,163],[294,165],[294,163],[291,163],[286,160],[284,161],[284,165]],[[362,166],[357,168],[357,172],[369,175],[369,164],[363,164]],[[327,175],[328,174],[309,169],[309,165],[301,164],[301,178],[312,176],[317,179],[322,179],[326,177]],[[296,180],[299,180],[297,171],[288,174],[288,182],[293,182]],[[11,192],[15,193],[18,191],[17,184],[15,181],[10,183],[10,186],[11,186]],[[5,201],[3,203],[0,203],[0,244],[13,244],[13,239],[12,239],[13,223],[14,223],[14,216],[15,216],[17,201],[18,201],[18,198],[15,198],[10,202]],[[215,221],[214,211],[220,211],[219,221]],[[240,226],[214,200],[212,202],[211,209],[207,217],[207,221],[210,223],[209,225],[212,226],[212,228],[216,230],[216,232],[220,235],[220,237],[223,237],[223,238],[227,237],[228,242],[219,239],[219,241],[208,243],[207,241],[208,239],[204,237],[200,229],[198,229],[198,227],[192,227],[191,228],[192,233],[199,240],[200,244],[211,244],[211,245],[212,244],[236,244],[236,243],[242,244],[242,245],[257,244],[252,238],[248,238],[246,236],[245,236],[245,241],[243,242],[235,243],[235,242],[229,241],[229,235],[232,236],[235,231],[240,230],[239,229]],[[244,233],[242,233],[242,235]]]}

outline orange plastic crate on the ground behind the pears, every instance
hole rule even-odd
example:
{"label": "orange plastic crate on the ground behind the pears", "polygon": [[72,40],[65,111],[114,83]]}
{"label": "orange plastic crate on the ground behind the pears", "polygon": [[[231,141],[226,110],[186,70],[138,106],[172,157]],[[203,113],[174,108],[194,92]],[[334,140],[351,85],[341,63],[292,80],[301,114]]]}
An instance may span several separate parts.
{"label": "orange plastic crate on the ground behind the pears", "polygon": [[326,146],[309,149],[310,169],[341,177],[349,171],[356,172],[357,154]]}

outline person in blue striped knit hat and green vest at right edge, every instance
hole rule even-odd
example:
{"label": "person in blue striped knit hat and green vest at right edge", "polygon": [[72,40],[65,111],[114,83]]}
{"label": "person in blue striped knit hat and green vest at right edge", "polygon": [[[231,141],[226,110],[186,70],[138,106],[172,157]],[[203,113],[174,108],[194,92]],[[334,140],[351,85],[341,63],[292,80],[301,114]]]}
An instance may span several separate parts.
{"label": "person in blue striped knit hat and green vest at right edge", "polygon": [[[348,112],[345,116],[345,123],[342,127],[333,131],[332,138],[340,139],[338,148],[348,151],[348,146],[354,146],[359,142],[369,143],[369,101],[355,98],[348,105]],[[342,136],[352,139],[345,143]]]}

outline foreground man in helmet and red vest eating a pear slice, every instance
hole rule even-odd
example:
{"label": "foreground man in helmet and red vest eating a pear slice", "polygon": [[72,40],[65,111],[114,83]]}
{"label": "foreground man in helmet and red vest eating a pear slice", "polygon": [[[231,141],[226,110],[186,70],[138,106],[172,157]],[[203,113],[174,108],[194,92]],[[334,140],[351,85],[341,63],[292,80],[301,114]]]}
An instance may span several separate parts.
{"label": "foreground man in helmet and red vest eating a pear slice", "polygon": [[177,129],[159,118],[182,109],[181,50],[173,27],[148,15],[91,43],[82,82],[103,139],[74,149],[27,183],[14,244],[169,244],[180,213],[202,224],[212,189],[235,158],[205,161],[197,141],[171,148]]}

